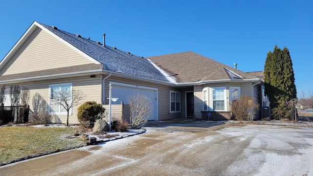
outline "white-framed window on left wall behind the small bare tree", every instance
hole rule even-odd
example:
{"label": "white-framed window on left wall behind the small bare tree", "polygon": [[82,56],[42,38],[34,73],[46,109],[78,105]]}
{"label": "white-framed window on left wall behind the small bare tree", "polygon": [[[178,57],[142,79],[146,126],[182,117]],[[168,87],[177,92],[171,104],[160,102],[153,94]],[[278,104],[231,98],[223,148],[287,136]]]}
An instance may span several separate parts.
{"label": "white-framed window on left wall behind the small bare tree", "polygon": [[[71,101],[71,92],[72,92],[72,84],[56,84],[56,85],[50,85],[49,86],[49,112],[55,113],[55,114],[67,114],[67,110],[64,109],[64,107],[59,103],[60,100],[60,92],[61,95],[66,95],[69,98],[69,101]],[[69,111],[71,114],[71,110]]]}

